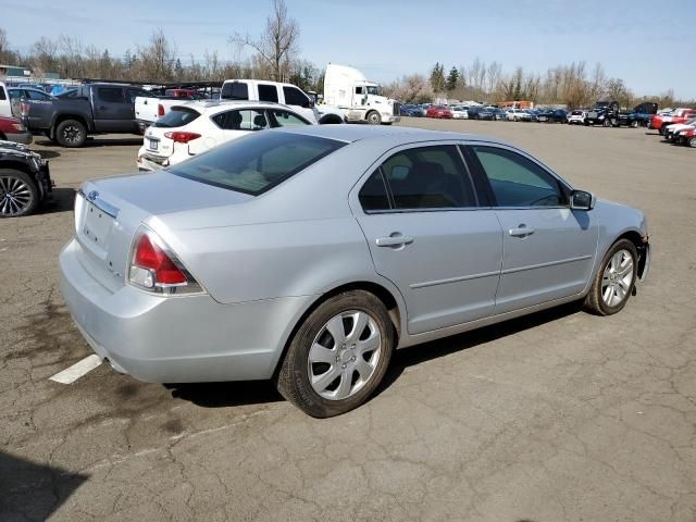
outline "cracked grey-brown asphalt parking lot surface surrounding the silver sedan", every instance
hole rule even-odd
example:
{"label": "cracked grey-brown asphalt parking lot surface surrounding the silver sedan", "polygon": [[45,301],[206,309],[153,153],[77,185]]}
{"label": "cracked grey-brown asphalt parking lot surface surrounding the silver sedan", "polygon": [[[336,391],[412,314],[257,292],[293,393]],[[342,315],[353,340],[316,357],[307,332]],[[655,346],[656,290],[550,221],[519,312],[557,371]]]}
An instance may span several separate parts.
{"label": "cracked grey-brown asphalt parking lot surface surrounding the silver sedan", "polygon": [[72,198],[133,172],[137,137],[38,138],[57,202],[0,222],[0,520],[696,520],[696,149],[654,132],[487,134],[642,208],[652,264],[626,309],[576,306],[397,352],[363,407],[314,420],[271,383],[162,386],[101,365],[58,289]]}

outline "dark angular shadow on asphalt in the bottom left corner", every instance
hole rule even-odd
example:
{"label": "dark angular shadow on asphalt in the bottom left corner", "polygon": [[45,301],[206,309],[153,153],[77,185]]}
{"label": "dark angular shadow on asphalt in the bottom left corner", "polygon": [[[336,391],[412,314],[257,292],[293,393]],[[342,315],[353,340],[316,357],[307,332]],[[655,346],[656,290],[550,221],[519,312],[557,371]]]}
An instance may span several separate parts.
{"label": "dark angular shadow on asphalt in the bottom left corner", "polygon": [[0,451],[0,520],[48,520],[88,477]]}

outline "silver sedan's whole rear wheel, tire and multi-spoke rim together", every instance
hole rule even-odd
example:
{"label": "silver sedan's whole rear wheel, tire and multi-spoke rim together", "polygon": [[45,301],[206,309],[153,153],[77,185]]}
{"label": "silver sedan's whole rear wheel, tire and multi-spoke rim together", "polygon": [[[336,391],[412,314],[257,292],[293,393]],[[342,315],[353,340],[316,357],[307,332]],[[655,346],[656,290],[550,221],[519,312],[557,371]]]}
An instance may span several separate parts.
{"label": "silver sedan's whole rear wheel, tire and multi-spoke rim together", "polygon": [[295,334],[278,372],[278,391],[311,417],[346,413],[380,385],[394,345],[387,310],[373,294],[334,296]]}

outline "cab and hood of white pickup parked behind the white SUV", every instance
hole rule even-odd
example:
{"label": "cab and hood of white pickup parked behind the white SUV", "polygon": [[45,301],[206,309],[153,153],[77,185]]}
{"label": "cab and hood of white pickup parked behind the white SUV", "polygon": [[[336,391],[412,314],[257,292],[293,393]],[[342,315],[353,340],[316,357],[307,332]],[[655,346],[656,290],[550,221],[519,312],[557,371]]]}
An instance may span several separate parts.
{"label": "cab and hood of white pickup parked behind the white SUV", "polygon": [[226,79],[220,92],[222,100],[270,101],[289,105],[312,123],[343,123],[343,113],[322,107],[293,84],[261,79]]}

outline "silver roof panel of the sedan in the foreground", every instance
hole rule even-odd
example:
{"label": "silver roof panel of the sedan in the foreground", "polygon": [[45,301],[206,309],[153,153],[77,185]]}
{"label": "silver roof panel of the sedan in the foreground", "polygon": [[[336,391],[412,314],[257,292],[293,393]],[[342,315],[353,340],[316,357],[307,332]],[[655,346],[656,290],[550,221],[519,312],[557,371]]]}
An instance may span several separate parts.
{"label": "silver roof panel of the sedan in the foreground", "polygon": [[[268,132],[268,130],[266,130]],[[394,138],[395,141],[403,140],[403,142],[413,141],[434,141],[434,140],[471,140],[471,141],[488,141],[492,144],[500,144],[509,147],[518,148],[507,141],[480,136],[475,134],[450,133],[446,130],[428,130],[425,128],[406,127],[406,126],[383,126],[383,125],[307,125],[301,127],[282,127],[271,132],[284,132],[303,134],[307,136],[315,136],[318,138],[334,139],[352,144],[361,140],[372,140],[381,138]]]}

